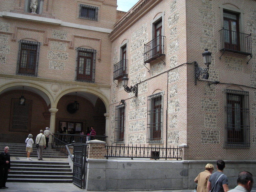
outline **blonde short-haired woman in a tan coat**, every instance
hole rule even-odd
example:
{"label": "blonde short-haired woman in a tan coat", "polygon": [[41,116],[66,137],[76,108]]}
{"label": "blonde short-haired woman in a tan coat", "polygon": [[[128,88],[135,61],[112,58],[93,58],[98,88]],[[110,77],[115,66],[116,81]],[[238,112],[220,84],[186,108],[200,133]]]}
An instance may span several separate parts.
{"label": "blonde short-haired woman in a tan coat", "polygon": [[198,174],[198,176],[194,180],[194,182],[197,183],[196,192],[206,192],[207,182],[213,170],[214,166],[208,163],[205,166],[205,171]]}

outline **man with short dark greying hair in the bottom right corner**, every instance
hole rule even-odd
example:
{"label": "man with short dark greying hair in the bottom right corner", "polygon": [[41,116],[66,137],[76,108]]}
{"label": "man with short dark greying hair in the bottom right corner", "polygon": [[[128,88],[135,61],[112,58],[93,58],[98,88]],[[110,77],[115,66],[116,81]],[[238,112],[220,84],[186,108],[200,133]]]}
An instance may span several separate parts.
{"label": "man with short dark greying hair in the bottom right corner", "polygon": [[238,186],[231,189],[231,192],[250,192],[253,185],[252,174],[248,171],[239,172],[237,176],[237,184]]}

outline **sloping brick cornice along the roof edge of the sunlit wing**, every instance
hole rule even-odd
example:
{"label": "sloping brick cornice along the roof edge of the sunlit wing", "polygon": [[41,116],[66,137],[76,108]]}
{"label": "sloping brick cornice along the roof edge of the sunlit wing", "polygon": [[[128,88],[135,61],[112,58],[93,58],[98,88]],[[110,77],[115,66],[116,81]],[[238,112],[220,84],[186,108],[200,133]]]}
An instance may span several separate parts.
{"label": "sloping brick cornice along the roof edge of the sunlit wing", "polygon": [[161,2],[161,0],[144,0],[137,6],[133,7],[130,12],[127,12],[123,18],[119,20],[118,23],[116,23],[116,27],[113,29],[113,31],[109,34],[109,38],[111,41],[116,39],[119,35],[123,33],[123,31],[129,26],[141,18],[143,15],[145,15],[150,9],[152,9],[156,4]]}

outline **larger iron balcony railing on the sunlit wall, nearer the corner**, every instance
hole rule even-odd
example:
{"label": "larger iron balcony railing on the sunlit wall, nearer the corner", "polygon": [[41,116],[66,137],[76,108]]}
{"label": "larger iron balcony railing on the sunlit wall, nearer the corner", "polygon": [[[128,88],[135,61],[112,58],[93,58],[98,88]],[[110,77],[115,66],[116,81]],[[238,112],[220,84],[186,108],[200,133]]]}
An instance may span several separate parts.
{"label": "larger iron balcony railing on the sunlit wall, nearer the corner", "polygon": [[152,41],[144,44],[144,63],[151,63],[164,54],[165,36],[157,36]]}

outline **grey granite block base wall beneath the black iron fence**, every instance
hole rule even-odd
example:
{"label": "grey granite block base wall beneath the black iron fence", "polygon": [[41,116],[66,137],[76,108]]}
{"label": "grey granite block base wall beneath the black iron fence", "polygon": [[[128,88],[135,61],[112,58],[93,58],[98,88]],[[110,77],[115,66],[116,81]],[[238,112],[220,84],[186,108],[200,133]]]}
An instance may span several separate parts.
{"label": "grey granite block base wall beneath the black iron fence", "polygon": [[[161,190],[193,189],[194,179],[211,163],[217,171],[216,161],[172,161],[150,159],[87,159],[87,190]],[[256,161],[226,162],[224,174],[228,176],[229,188],[237,185],[240,171],[255,175]],[[255,180],[255,178],[254,178]],[[254,185],[253,187],[255,187]]]}

